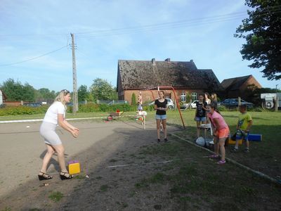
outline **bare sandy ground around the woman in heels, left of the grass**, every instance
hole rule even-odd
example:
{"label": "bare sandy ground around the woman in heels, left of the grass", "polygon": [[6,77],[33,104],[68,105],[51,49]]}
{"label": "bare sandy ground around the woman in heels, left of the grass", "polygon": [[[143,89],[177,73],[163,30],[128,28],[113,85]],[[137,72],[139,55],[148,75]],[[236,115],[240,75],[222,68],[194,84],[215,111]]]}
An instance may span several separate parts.
{"label": "bare sandy ground around the woman in heels, left of the grass", "polygon": [[[142,146],[156,144],[154,122],[148,122],[144,130],[139,122],[72,121],[72,124],[80,129],[78,139],[58,127],[58,134],[65,146],[66,161],[79,160],[81,177],[61,181],[58,162],[54,156],[48,168],[48,173],[53,176],[53,179],[47,181],[48,186],[44,186],[46,181],[39,181],[37,177],[46,152],[44,140],[39,134],[40,124],[41,122],[25,122],[0,125],[0,210],[126,208],[127,205],[122,204],[122,201],[128,194],[132,194],[126,193],[126,186],[133,185],[129,181],[137,179],[138,174],[145,174],[144,169],[118,169],[110,166],[133,163],[135,151]],[[168,129],[169,132],[178,130],[171,126]],[[84,177],[86,174],[89,179]],[[122,193],[115,193],[114,186],[120,185]],[[110,188],[110,191],[104,191],[107,188]],[[52,191],[63,193],[63,200],[53,203],[48,198]],[[106,194],[99,194],[103,191]],[[111,194],[111,198],[108,194]],[[112,194],[116,196],[115,200],[112,199]],[[136,203],[134,210],[143,210],[141,201],[133,203]]]}

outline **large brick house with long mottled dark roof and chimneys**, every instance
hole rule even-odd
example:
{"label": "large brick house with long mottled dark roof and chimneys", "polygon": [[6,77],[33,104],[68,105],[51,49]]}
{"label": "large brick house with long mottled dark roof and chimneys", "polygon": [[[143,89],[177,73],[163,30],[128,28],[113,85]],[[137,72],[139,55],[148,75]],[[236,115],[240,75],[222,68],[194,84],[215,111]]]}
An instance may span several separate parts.
{"label": "large brick house with long mottled dark roof and chimneys", "polygon": [[197,99],[204,91],[218,93],[223,90],[213,70],[197,69],[193,60],[118,60],[119,100],[131,103],[132,94],[138,96],[141,91],[143,102],[153,101],[158,97],[158,87],[164,90],[166,97],[178,101],[185,101],[187,96]]}

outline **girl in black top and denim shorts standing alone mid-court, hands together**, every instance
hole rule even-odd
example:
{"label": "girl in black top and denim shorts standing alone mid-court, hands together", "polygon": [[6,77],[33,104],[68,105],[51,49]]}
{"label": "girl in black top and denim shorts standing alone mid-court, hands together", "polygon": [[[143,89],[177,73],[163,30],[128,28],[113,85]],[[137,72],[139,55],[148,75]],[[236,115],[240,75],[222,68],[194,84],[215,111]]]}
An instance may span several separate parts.
{"label": "girl in black top and denim shorts standing alone mid-court, hands together", "polygon": [[164,131],[164,141],[167,142],[166,138],[166,110],[168,108],[168,101],[164,98],[164,91],[159,91],[159,98],[155,100],[154,109],[156,110],[156,124],[157,124],[157,142],[160,142],[160,124]]}

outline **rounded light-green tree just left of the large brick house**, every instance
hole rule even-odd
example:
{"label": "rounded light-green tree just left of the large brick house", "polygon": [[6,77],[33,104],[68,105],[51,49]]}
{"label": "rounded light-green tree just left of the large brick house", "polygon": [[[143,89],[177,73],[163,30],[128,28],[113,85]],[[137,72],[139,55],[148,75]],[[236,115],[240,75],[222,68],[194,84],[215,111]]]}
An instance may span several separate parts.
{"label": "rounded light-green tree just left of the large brick house", "polygon": [[106,79],[96,78],[90,87],[93,101],[112,100],[116,96],[116,91]]}

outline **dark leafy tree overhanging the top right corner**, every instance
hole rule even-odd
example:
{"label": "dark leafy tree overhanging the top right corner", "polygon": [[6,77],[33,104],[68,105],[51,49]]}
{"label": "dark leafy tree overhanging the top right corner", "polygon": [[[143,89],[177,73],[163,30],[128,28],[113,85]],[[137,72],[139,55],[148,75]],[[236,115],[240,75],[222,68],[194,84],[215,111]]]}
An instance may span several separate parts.
{"label": "dark leafy tree overhanging the top right corner", "polygon": [[253,60],[250,68],[263,68],[263,77],[281,78],[281,1],[246,0],[254,8],[247,11],[249,18],[242,20],[234,36],[246,39],[242,58]]}

